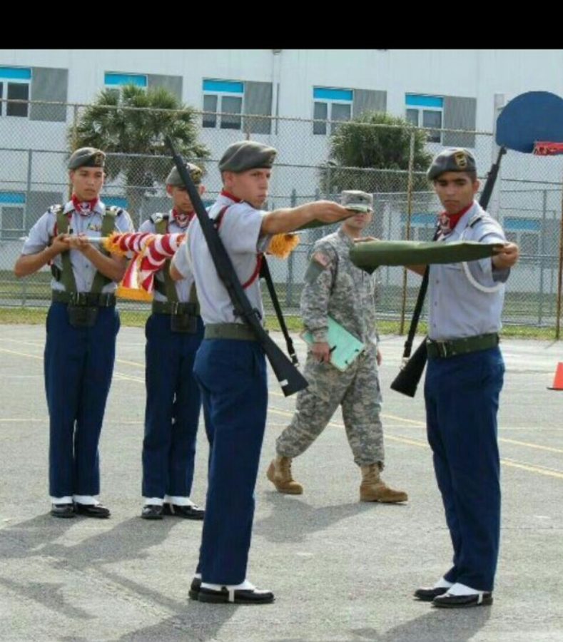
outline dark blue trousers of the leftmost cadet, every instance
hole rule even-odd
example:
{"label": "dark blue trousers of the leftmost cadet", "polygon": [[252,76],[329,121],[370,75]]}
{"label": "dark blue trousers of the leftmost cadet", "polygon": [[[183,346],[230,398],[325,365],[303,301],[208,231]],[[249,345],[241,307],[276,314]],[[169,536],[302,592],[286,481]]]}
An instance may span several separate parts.
{"label": "dark blue trousers of the leftmost cadet", "polygon": [[49,308],[44,374],[51,496],[100,492],[98,442],[119,325],[115,307],[100,307],[93,327],[71,326],[65,303]]}

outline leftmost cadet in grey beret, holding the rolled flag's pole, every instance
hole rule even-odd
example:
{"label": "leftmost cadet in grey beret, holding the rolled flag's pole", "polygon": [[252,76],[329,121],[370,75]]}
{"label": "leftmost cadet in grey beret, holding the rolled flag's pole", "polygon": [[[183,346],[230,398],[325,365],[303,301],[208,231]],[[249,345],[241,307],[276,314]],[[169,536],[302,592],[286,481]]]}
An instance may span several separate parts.
{"label": "leftmost cadet in grey beret, holding the rolled flag's pole", "polygon": [[51,265],[45,389],[49,407],[49,494],[56,517],[108,517],[99,504],[98,441],[106,408],[119,315],[116,287],[126,259],[108,255],[88,237],[133,231],[125,210],[106,208],[105,154],[84,147],[69,159],[72,198],[54,205],[31,228],[16,276]]}

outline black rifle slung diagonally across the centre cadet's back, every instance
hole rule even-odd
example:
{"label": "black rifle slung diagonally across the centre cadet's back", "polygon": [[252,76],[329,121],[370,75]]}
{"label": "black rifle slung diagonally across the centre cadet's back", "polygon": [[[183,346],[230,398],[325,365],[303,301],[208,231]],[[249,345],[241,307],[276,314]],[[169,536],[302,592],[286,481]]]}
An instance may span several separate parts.
{"label": "black rifle slung diagonally across the centre cadet's back", "polygon": [[183,159],[178,155],[178,153],[176,153],[176,149],[174,148],[169,136],[166,136],[166,145],[170,149],[173,161],[178,168],[178,173],[180,174],[184,185],[186,185],[186,190],[190,196],[193,208],[196,211],[196,216],[198,217],[201,225],[201,231],[206,239],[211,257],[213,258],[213,263],[215,264],[218,277],[223,282],[230,300],[233,302],[235,307],[235,315],[241,317],[254,332],[254,335],[262,346],[266,357],[268,357],[268,361],[272,366],[275,376],[280,382],[280,386],[285,397],[289,397],[290,394],[303,390],[308,386],[307,379],[305,379],[303,374],[301,374],[292,362],[290,362],[288,357],[285,356],[270,335],[268,335],[268,332],[266,332],[262,327],[258,316],[258,310],[255,310],[250,305],[250,301],[243,290],[243,286],[240,285],[233,263],[230,260],[227,250],[225,250],[223,241],[220,239],[218,231],[215,229],[215,225],[213,225],[211,218],[209,218],[196,185],[193,183],[193,179],[191,178],[188,170],[186,170]]}

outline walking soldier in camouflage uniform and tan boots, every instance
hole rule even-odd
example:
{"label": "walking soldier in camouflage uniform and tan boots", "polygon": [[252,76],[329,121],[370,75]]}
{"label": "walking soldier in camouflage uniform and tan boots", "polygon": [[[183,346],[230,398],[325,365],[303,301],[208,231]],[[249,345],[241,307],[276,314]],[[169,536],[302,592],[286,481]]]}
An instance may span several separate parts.
{"label": "walking soldier in camouflage uniform and tan boots", "polygon": [[[278,437],[277,457],[267,475],[281,493],[301,494],[303,486],[291,475],[291,459],[313,444],[341,404],[346,436],[362,470],[360,501],[407,501],[405,492],[390,489],[380,478],[385,454],[377,375],[381,356],[375,329],[375,280],[349,258],[350,248],[370,223],[373,199],[365,192],[347,191],[342,194],[342,204],[359,213],[313,248],[301,295],[303,323],[314,340],[304,372],[309,387],[298,394],[295,414]],[[344,372],[330,364],[328,316],[365,345]]]}

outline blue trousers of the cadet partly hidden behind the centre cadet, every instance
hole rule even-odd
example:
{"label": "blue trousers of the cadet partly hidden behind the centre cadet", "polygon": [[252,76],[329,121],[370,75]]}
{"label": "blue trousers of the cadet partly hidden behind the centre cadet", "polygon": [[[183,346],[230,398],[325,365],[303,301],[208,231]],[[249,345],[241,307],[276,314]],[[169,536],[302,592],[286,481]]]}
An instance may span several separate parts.
{"label": "blue trousers of the cadet partly hidden behind the centre cadet", "polygon": [[203,339],[172,332],[171,316],[152,314],[145,327],[146,409],[143,497],[188,497],[193,482],[201,395],[193,363]]}

